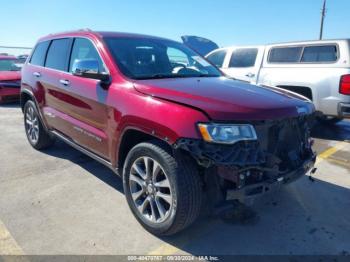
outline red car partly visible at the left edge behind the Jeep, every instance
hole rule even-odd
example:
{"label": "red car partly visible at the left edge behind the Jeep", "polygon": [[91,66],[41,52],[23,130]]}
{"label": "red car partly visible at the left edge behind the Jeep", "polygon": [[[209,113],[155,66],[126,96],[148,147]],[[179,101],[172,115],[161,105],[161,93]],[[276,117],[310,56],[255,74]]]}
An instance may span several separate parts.
{"label": "red car partly visible at the left edge behind the Jeep", "polygon": [[0,103],[19,100],[21,72],[14,56],[0,56]]}

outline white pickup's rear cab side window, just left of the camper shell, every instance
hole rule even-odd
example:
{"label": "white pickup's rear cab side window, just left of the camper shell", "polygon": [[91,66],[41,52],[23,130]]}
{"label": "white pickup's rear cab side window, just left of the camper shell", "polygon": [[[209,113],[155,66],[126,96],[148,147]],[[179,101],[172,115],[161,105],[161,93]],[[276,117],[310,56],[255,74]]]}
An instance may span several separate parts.
{"label": "white pickup's rear cab side window, just left of the camper shell", "polygon": [[233,51],[229,67],[252,67],[255,65],[257,48],[241,48]]}

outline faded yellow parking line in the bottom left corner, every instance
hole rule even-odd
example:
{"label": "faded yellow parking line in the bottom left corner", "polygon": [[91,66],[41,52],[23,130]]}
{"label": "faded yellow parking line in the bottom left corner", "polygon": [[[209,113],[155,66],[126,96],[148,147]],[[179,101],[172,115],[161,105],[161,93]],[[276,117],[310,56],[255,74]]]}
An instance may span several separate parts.
{"label": "faded yellow parking line in the bottom left corner", "polygon": [[4,223],[0,220],[0,255],[23,255],[22,248],[17,244]]}

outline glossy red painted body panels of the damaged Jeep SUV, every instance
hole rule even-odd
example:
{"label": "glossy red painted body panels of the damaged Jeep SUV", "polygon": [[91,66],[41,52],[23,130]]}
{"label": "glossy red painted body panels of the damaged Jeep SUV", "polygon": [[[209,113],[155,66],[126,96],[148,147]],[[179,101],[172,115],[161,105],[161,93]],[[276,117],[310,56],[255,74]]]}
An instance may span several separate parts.
{"label": "glossy red painted body panels of the damaged Jeep SUV", "polygon": [[[293,117],[298,114],[297,106],[313,110],[312,104],[286,94],[224,78],[128,79],[118,70],[104,45],[103,36],[140,37],[80,31],[50,35],[41,40],[61,37],[91,39],[112,77],[108,89],[103,89],[98,80],[25,64],[22,91],[34,94],[43,120],[50,129],[64,133],[113,165],[118,159],[120,141],[130,129],[172,144],[180,137],[199,139],[198,122]],[[33,77],[34,72],[39,72],[41,77]],[[60,85],[61,79],[69,80],[70,85]],[[82,134],[76,127],[101,138],[101,141]]]}

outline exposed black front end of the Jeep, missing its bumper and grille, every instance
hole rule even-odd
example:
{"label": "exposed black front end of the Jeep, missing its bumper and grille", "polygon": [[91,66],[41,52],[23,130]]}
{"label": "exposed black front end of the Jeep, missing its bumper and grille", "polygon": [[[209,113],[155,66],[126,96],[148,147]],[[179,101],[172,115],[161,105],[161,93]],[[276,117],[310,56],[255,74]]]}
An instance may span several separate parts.
{"label": "exposed black front end of the Jeep, missing its bumper and grille", "polygon": [[312,169],[316,160],[310,139],[312,123],[312,115],[250,122],[257,141],[223,145],[180,139],[174,147],[188,151],[206,172],[217,174],[226,200],[244,201],[294,181]]}

